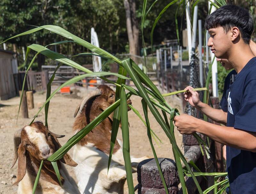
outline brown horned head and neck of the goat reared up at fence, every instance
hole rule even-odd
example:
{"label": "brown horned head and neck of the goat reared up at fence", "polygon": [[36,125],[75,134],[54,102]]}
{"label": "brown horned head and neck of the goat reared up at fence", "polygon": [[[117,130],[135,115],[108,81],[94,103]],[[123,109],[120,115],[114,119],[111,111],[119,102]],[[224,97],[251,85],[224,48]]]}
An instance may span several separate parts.
{"label": "brown horned head and neck of the goat reared up at fence", "polygon": [[[116,92],[107,85],[100,85],[95,91],[92,91],[87,97],[84,97],[81,104],[76,108],[76,112],[80,110],[81,114],[75,120],[73,131],[78,132],[88,125],[93,119],[100,115],[101,112],[106,110],[111,104],[115,102]],[[127,104],[132,104],[130,99]],[[128,111],[131,108],[128,107]],[[93,129],[92,133],[87,134],[82,140],[78,142],[79,145],[86,145],[93,143],[102,152],[109,154],[111,138],[111,129],[113,122],[113,114],[111,113],[108,118],[104,119],[98,126]],[[121,126],[121,125],[120,125]],[[116,140],[114,153],[120,148]]]}

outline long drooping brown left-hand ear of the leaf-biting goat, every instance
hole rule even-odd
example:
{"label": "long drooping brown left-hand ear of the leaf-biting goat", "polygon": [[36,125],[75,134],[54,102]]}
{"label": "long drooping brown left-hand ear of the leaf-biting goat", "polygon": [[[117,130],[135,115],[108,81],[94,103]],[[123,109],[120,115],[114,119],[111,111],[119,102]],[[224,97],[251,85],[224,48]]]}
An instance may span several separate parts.
{"label": "long drooping brown left-hand ear of the leaf-biting goat", "polygon": [[25,152],[26,152],[25,147],[22,144],[20,144],[20,147],[18,149],[18,175],[17,175],[15,183],[13,183],[12,185],[17,185],[26,174]]}

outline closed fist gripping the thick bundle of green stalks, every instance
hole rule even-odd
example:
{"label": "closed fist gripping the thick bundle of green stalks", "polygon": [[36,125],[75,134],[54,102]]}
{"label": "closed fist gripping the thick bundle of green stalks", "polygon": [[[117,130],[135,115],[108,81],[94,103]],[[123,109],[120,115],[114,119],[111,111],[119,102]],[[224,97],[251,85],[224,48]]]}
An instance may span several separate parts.
{"label": "closed fist gripping the thick bundle of green stalks", "polygon": [[189,116],[187,114],[181,114],[180,116],[174,117],[174,125],[177,126],[177,130],[180,134],[192,134],[196,132],[197,125],[200,119]]}

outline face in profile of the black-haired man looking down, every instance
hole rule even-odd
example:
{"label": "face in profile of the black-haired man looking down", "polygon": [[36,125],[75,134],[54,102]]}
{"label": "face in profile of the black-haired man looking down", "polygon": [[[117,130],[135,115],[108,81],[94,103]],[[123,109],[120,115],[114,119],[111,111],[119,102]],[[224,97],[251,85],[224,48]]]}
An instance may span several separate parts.
{"label": "face in profile of the black-haired man looking down", "polygon": [[211,28],[208,30],[210,38],[208,47],[211,47],[212,53],[219,59],[228,58],[228,50],[231,47],[230,32],[225,32],[223,27]]}

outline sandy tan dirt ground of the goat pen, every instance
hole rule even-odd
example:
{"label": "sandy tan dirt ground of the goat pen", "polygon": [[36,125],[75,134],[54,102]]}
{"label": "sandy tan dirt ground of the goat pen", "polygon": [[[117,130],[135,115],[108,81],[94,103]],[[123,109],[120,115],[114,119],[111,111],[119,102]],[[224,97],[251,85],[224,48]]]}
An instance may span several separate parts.
{"label": "sandy tan dirt ground of the goat pen", "polygon": [[[90,90],[80,92],[82,96]],[[79,95],[79,93],[78,93]],[[19,97],[14,97],[9,100],[0,101],[0,194],[15,194],[17,192],[17,186],[12,186],[17,175],[17,164],[10,169],[13,158],[13,133],[28,125],[36,115],[36,112],[42,106],[45,101],[46,94],[43,92],[34,93],[35,108],[28,111],[29,119],[23,119],[19,114],[19,119],[16,124],[16,118],[19,108]],[[60,144],[63,145],[67,140],[72,137],[72,126],[74,122],[73,113],[76,108],[76,104],[80,102],[81,97],[75,94],[61,95],[56,94],[50,103],[48,113],[49,129],[53,133],[64,134],[64,138],[59,139]],[[140,97],[132,96],[132,105],[143,115],[143,110],[140,103]],[[180,99],[178,97],[167,97],[167,102],[172,107],[177,107],[180,111]],[[134,112],[129,111],[129,123],[130,123],[130,152],[132,156],[142,157],[148,155],[154,157],[147,136],[147,130],[140,119]],[[36,120],[42,120],[44,122],[44,109],[39,113]],[[160,147],[153,141],[156,154],[158,157],[165,157],[173,159],[172,146],[166,137],[164,131],[158,125],[153,115],[149,112],[149,120],[152,130],[162,140]],[[122,134],[118,132],[118,138],[122,139]],[[175,136],[178,145],[182,148],[182,135],[175,130]],[[69,151],[72,156],[73,150]],[[72,167],[66,166],[70,175],[75,178]],[[137,174],[133,174],[134,185],[137,185]],[[124,193],[128,193],[127,185],[124,187]]]}

